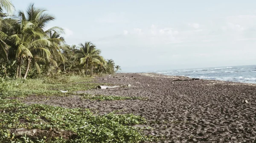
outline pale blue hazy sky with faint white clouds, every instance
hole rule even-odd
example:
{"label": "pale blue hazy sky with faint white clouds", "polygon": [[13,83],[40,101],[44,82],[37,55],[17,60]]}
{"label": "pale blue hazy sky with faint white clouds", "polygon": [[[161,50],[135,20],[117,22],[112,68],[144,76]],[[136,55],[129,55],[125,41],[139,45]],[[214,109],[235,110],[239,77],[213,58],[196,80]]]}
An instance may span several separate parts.
{"label": "pale blue hazy sky with faint white clouds", "polygon": [[68,45],[93,42],[123,72],[256,64],[256,0],[12,0],[56,17]]}

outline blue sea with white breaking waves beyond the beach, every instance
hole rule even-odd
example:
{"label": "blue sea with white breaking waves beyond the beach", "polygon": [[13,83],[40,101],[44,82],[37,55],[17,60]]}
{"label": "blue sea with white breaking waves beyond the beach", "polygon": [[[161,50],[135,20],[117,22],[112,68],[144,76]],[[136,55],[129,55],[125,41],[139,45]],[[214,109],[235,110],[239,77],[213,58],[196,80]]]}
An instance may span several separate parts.
{"label": "blue sea with white breaking waves beyond the beach", "polygon": [[182,70],[156,71],[168,76],[188,76],[190,78],[221,81],[245,82],[256,84],[256,65],[235,67],[209,67]]}

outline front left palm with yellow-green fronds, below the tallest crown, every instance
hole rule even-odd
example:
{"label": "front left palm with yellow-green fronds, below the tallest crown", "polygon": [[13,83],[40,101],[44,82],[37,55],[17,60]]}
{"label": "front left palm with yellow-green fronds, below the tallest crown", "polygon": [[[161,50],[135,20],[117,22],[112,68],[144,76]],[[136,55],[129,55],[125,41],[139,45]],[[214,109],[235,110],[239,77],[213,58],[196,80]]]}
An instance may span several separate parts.
{"label": "front left palm with yellow-green fronds, below the tallest crown", "polygon": [[[34,56],[49,59],[50,52],[45,47],[50,46],[51,42],[44,38],[44,33],[35,31],[35,25],[29,21],[21,20],[20,31],[17,34],[9,36],[9,42],[14,43],[16,49],[17,72],[16,77],[21,77],[21,64],[23,59],[27,59],[26,79],[30,62]],[[35,64],[37,67],[38,65]]]}

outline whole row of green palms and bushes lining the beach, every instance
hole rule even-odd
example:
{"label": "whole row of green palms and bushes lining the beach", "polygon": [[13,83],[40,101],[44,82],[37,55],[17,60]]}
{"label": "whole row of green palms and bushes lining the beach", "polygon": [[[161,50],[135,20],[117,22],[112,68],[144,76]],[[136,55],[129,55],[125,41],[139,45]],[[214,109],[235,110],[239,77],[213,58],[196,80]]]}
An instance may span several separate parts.
{"label": "whole row of green palms and bushes lining the beach", "polygon": [[105,60],[93,43],[69,46],[61,37],[63,28],[45,30],[47,23],[55,20],[46,10],[31,4],[26,12],[17,11],[15,18],[8,18],[14,10],[10,0],[0,0],[0,77],[26,79],[28,75],[60,72],[93,76],[121,70],[112,59]]}

